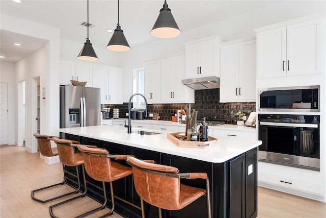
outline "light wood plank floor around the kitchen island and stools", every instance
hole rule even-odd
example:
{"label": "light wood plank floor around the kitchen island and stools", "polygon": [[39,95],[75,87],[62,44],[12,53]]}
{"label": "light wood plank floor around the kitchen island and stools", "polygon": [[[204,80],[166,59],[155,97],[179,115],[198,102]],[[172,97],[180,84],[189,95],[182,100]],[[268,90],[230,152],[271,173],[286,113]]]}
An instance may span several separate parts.
{"label": "light wood plank floor around the kitchen island and stools", "polygon": [[[38,153],[31,154],[24,148],[0,146],[0,217],[50,217],[48,207],[63,201],[42,204],[31,198],[31,190],[59,183],[63,179],[62,164],[46,164]],[[70,190],[68,185],[46,191],[37,197],[56,195]],[[78,194],[77,194],[78,195]],[[66,197],[66,199],[71,197]],[[53,209],[60,217],[73,217],[100,204],[85,197]],[[105,208],[87,217],[98,217],[110,209]],[[111,218],[122,217],[114,213]],[[301,198],[287,193],[258,187],[258,217],[325,217],[326,203]]]}

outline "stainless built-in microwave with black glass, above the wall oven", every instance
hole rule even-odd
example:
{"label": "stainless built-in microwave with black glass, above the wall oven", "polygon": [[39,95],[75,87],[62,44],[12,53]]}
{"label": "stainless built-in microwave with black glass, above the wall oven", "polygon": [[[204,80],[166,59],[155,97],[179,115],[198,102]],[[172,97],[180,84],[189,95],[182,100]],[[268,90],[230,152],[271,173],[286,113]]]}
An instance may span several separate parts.
{"label": "stainless built-in microwave with black glass, above the wall oven", "polygon": [[259,111],[319,112],[320,86],[259,89]]}

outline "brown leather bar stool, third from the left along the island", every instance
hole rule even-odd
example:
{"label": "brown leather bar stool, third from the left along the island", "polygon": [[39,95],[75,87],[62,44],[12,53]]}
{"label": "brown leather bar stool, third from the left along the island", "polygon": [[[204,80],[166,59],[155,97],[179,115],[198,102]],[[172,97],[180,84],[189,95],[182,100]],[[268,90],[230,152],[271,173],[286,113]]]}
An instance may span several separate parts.
{"label": "brown leather bar stool, third from the left along the island", "polygon": [[110,182],[112,208],[111,208],[110,212],[104,214],[101,217],[105,217],[105,216],[111,215],[113,213],[113,210],[115,207],[114,198],[119,199],[120,201],[123,201],[124,203],[127,203],[127,204],[141,210],[141,208],[138,207],[137,205],[134,205],[124,199],[121,199],[121,198],[115,196],[113,193],[112,182],[131,175],[132,169],[131,169],[131,167],[122,165],[115,161],[111,161],[110,159],[126,160],[127,157],[130,157],[131,155],[111,155],[108,153],[107,150],[88,148],[82,144],[78,145],[78,150],[83,153],[84,165],[85,165],[87,174],[90,177],[92,177],[93,179],[102,182],[102,186],[103,186],[103,188],[101,188],[101,187],[93,184],[99,190],[103,191],[103,196],[104,196],[104,202],[103,202],[102,206],[94,209],[93,211],[97,211],[97,210],[103,209],[105,207],[105,204],[107,202],[105,182]]}

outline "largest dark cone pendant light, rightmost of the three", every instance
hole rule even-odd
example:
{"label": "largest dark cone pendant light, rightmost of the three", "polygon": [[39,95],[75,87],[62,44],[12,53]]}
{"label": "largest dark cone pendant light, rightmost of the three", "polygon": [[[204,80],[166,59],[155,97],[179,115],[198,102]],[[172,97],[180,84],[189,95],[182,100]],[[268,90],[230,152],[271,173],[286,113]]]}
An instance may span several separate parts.
{"label": "largest dark cone pendant light, rightmost of the three", "polygon": [[181,34],[166,0],[164,1],[163,8],[159,11],[159,15],[150,33],[152,36],[165,39],[174,38]]}

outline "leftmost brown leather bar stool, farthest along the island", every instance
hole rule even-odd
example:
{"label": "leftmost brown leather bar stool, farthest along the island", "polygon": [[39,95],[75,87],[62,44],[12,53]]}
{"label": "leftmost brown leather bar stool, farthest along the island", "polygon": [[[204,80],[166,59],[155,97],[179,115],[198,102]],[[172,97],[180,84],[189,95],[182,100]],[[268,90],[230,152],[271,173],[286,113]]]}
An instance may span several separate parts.
{"label": "leftmost brown leather bar stool, farthest along the island", "polygon": [[[37,143],[38,143],[38,146],[40,148],[40,153],[44,157],[52,157],[52,156],[58,155],[58,148],[51,148],[50,140],[52,140],[52,137],[54,137],[54,136],[40,135],[39,133],[34,133],[33,135],[35,136],[35,138],[37,138]],[[71,143],[79,144],[79,141],[71,141]],[[39,202],[42,202],[42,203],[46,203],[46,202],[53,201],[53,200],[56,200],[56,199],[59,199],[59,198],[63,198],[65,196],[72,195],[73,193],[78,193],[79,188],[80,188],[80,184],[78,184],[79,186],[75,191],[65,193],[64,195],[57,196],[57,197],[54,197],[54,198],[42,200],[42,199],[36,198],[34,196],[34,193],[36,193],[36,192],[39,192],[39,191],[42,191],[42,190],[45,190],[45,189],[49,189],[49,188],[52,188],[52,187],[57,187],[57,186],[65,184],[65,182],[66,182],[66,172],[67,171],[65,171],[65,165],[62,164],[62,166],[63,166],[63,173],[64,173],[63,181],[60,182],[60,183],[54,184],[54,185],[49,185],[49,186],[46,186],[46,187],[43,187],[43,188],[32,190],[32,192],[31,192],[32,199],[34,199],[36,201],[39,201]]]}

